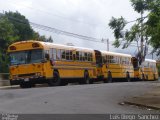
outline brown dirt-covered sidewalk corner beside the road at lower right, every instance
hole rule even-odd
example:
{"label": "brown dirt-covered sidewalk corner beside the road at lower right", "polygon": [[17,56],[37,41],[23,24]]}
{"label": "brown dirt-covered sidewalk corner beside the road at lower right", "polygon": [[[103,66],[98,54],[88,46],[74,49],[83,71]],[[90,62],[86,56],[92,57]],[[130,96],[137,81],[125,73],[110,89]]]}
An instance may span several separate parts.
{"label": "brown dirt-covered sidewalk corner beside the road at lower right", "polygon": [[160,110],[160,82],[142,96],[132,97],[124,101],[125,104]]}

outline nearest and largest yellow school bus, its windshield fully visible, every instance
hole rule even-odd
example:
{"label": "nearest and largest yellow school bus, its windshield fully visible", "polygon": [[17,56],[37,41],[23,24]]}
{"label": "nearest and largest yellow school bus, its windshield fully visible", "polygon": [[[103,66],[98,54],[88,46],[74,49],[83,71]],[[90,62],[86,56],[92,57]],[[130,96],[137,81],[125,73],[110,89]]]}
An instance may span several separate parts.
{"label": "nearest and largest yellow school bus, its windshield fully visible", "polygon": [[66,85],[69,79],[92,83],[97,78],[92,49],[40,41],[22,41],[8,47],[10,83],[22,88],[48,83]]}

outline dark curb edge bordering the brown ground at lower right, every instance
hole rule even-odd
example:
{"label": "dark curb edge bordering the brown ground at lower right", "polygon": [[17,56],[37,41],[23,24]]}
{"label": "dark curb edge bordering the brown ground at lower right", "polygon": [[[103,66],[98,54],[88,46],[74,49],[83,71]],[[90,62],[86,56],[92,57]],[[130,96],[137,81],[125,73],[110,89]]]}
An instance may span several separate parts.
{"label": "dark curb edge bordering the brown ground at lower right", "polygon": [[124,101],[124,103],[128,104],[128,105],[135,105],[135,106],[138,106],[138,107],[145,107],[145,108],[150,108],[150,109],[154,109],[154,110],[160,110],[159,107],[154,107],[154,106],[140,104],[140,103],[134,103],[134,102],[129,102],[129,101]]}

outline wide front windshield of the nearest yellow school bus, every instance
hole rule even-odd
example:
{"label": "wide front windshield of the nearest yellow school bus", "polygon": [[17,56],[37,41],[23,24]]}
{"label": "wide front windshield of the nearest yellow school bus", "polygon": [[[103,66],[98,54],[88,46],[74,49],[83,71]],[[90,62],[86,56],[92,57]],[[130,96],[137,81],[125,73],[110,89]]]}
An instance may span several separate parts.
{"label": "wide front windshield of the nearest yellow school bus", "polygon": [[10,65],[38,63],[44,60],[43,50],[27,50],[10,53]]}

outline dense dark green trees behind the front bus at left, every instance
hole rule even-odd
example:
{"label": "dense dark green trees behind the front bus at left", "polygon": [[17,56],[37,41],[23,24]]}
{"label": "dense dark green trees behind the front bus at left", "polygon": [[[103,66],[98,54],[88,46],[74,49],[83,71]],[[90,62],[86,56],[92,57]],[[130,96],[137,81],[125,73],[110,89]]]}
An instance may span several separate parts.
{"label": "dense dark green trees behind the front bus at left", "polygon": [[8,72],[7,47],[13,42],[24,40],[53,42],[51,36],[47,38],[35,32],[29,20],[19,12],[0,14],[0,72]]}

